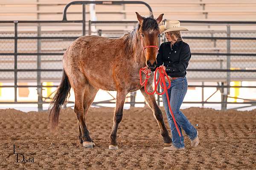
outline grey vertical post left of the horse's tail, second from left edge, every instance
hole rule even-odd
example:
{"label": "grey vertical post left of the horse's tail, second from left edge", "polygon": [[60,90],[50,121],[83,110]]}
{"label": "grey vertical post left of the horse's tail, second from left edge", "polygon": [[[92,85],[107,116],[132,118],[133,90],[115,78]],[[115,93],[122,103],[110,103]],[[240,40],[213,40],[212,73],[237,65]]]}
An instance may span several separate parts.
{"label": "grey vertical post left of the horse's tail, second from left edge", "polygon": [[[41,37],[41,25],[38,23],[38,37]],[[37,40],[37,52],[41,53],[41,39]],[[41,55],[37,56],[37,69],[41,69]],[[37,85],[41,85],[41,71],[37,71]],[[38,111],[43,110],[42,87],[37,88],[38,92]],[[49,96],[47,96],[49,97]]]}

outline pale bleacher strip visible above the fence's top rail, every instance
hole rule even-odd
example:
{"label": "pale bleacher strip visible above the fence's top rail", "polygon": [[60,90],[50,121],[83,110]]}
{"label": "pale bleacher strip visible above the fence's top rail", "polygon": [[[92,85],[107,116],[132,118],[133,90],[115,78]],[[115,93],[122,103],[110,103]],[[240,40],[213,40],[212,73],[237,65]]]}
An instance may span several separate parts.
{"label": "pale bleacher strip visible above the fence's top rail", "polygon": [[[72,0],[0,1],[0,20],[61,20],[64,6]],[[165,18],[177,20],[256,20],[255,0],[144,0],[154,14],[165,13]],[[134,20],[134,11],[148,14],[144,5],[96,5],[98,20]],[[216,10],[217,9],[217,10]],[[81,5],[72,5],[68,17],[81,19]],[[87,5],[86,11],[89,12]],[[107,14],[107,15],[105,15]],[[114,17],[113,15],[114,14]],[[89,18],[87,18],[89,19]]]}

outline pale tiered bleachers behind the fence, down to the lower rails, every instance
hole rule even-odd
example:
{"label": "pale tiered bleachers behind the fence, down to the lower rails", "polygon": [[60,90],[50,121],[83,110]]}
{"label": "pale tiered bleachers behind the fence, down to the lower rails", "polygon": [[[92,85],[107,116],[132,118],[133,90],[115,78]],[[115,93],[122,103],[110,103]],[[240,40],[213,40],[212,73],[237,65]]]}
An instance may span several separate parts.
{"label": "pale tiered bleachers behind the fence, down to the lower rails", "polygon": [[[0,1],[0,20],[62,20],[63,9],[67,3],[73,0],[1,0]],[[255,0],[144,0],[148,3],[157,17],[164,13],[164,19],[172,20],[229,20],[229,21],[256,21],[256,1]],[[135,11],[141,15],[148,16],[147,7],[138,4],[125,5],[96,5],[97,20],[137,20]],[[72,5],[67,10],[67,20],[82,20],[82,6]],[[90,20],[90,7],[86,6],[86,30],[88,30],[88,20]],[[227,26],[224,24],[192,24],[181,23],[182,26],[189,29],[189,32],[182,32],[183,37],[202,36],[202,37],[226,37]],[[124,32],[133,29],[135,24],[97,24],[96,29],[102,29],[102,35],[116,37]],[[88,34],[88,32],[86,32]],[[93,34],[97,34],[94,32]],[[82,35],[81,23],[54,23],[41,24],[41,36],[72,36],[79,37]],[[256,37],[255,25],[232,25],[232,37]],[[13,24],[0,24],[0,36],[14,36]],[[19,23],[18,36],[37,36],[37,24]],[[227,40],[194,40],[184,39],[189,43],[192,52],[210,52],[225,53],[227,52]],[[73,40],[41,40],[41,52],[64,52]],[[247,43],[246,46],[241,44]],[[256,41],[254,40],[232,40],[230,51],[233,53],[256,53]],[[14,40],[0,39],[0,52],[14,52]],[[18,52],[37,52],[37,40],[18,40]],[[18,57],[18,68],[36,69],[37,56],[22,56],[25,61]],[[226,56],[214,56],[210,60],[205,56],[193,56],[189,67],[195,68],[218,68],[226,66]],[[42,57],[42,68],[52,68],[58,65],[61,69],[62,56],[44,56]],[[13,56],[1,56],[0,66],[4,69],[13,67]],[[239,61],[243,58],[233,60],[234,66],[239,67]],[[243,65],[253,67],[256,61],[248,58]],[[254,59],[255,60],[255,59]],[[28,62],[26,62],[28,61]],[[8,64],[9,63],[9,64]],[[206,65],[205,63],[209,63]],[[243,68],[244,66],[241,66]],[[223,73],[216,74],[220,78]],[[27,78],[28,73],[19,73],[19,78]],[[239,75],[239,74],[238,74]],[[0,74],[0,78],[3,75]],[[5,74],[5,78],[13,79],[13,73]],[[27,77],[26,77],[27,76]],[[29,75],[31,78],[35,75]],[[46,77],[44,77],[46,76]],[[57,78],[61,73],[48,74],[42,73],[42,78]],[[55,76],[55,77],[54,77]],[[194,75],[190,75],[192,78]],[[225,77],[225,75],[223,75]],[[56,78],[56,79],[57,79]],[[194,77],[195,78],[195,77]],[[247,78],[246,76],[244,78]],[[195,78],[196,79],[196,78]]]}

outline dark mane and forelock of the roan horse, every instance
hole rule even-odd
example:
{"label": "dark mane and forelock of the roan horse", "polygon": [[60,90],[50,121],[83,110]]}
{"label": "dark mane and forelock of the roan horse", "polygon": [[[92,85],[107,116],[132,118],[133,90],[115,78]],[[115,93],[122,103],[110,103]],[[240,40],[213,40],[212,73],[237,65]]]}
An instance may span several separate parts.
{"label": "dark mane and forelock of the roan horse", "polygon": [[152,29],[159,29],[159,25],[157,21],[154,19],[153,14],[149,17],[143,17],[142,26],[140,23],[137,24],[136,28],[133,29],[131,32],[125,34],[125,53],[132,54],[137,46],[137,43],[140,42],[140,32],[152,30]]}

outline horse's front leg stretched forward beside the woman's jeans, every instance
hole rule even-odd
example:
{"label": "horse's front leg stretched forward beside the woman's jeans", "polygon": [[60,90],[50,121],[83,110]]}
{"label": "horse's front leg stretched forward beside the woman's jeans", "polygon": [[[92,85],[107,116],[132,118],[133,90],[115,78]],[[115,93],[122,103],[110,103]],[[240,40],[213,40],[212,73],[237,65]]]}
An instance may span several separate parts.
{"label": "horse's front leg stretched forward beside the woman's jeans", "polygon": [[[151,107],[151,109],[153,110],[154,118],[157,120],[157,124],[160,127],[160,132],[161,132],[161,135],[163,136],[164,143],[166,143],[166,144],[171,143],[172,139],[170,138],[169,133],[166,129],[166,126],[163,122],[163,115],[162,115],[162,112],[161,112],[160,108],[157,105],[155,96],[154,95],[148,95],[145,92],[144,87],[141,88],[140,91],[144,95],[145,100],[147,101],[149,107]],[[152,86],[148,86],[148,91],[153,92]]]}

